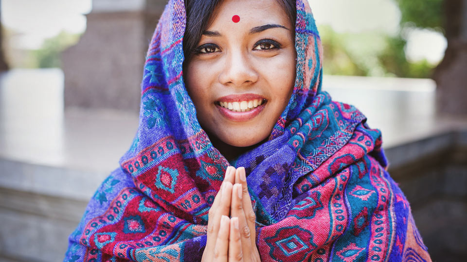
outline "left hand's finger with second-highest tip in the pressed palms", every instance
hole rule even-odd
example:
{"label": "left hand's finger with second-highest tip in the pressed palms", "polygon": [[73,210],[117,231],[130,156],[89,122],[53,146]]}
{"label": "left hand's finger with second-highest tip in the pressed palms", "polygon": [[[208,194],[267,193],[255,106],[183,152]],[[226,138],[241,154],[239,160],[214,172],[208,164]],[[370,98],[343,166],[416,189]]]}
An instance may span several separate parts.
{"label": "left hand's finger with second-highest tip in the pressed palms", "polygon": [[220,194],[216,196],[219,199],[217,207],[213,206],[209,209],[206,248],[211,248],[211,250],[216,245],[222,216],[229,216],[230,214],[232,187],[231,182],[223,183]]}

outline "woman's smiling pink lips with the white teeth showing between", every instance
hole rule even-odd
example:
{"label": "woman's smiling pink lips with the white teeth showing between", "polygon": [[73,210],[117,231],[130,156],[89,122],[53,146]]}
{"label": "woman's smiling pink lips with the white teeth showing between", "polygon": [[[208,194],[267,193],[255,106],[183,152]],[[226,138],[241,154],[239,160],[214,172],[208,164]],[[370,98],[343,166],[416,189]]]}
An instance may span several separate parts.
{"label": "woman's smiling pink lips with the white teeth showing between", "polygon": [[258,115],[267,100],[255,94],[230,95],[216,101],[217,109],[226,118],[235,121],[248,121]]}

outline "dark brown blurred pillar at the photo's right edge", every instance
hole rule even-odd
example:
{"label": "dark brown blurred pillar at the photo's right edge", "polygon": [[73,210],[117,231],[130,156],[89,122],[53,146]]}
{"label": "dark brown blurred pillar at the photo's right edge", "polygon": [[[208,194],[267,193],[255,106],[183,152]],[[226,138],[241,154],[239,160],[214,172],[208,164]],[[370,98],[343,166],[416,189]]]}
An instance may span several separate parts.
{"label": "dark brown blurred pillar at the photo's right edge", "polygon": [[467,0],[444,0],[448,49],[436,68],[439,113],[467,115]]}

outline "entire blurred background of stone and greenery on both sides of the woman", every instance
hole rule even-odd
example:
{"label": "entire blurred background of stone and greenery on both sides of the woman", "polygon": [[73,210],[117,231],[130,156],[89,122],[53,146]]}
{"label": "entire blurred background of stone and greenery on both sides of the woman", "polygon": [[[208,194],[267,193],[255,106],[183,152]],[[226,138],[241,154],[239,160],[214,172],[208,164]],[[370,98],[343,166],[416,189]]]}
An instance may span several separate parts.
{"label": "entire blurred background of stone and greenery on both sides of the woman", "polygon": [[[61,261],[138,125],[166,0],[0,0],[0,262]],[[323,90],[383,133],[433,261],[467,256],[467,0],[310,0]]]}

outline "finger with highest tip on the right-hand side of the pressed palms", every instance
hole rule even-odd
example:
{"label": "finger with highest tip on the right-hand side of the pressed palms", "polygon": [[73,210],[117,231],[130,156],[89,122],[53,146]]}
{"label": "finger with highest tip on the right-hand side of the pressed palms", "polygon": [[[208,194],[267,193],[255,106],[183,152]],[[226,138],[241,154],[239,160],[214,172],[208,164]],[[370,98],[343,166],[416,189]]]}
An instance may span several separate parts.
{"label": "finger with highest tip on the right-hand side of the pressed palms", "polygon": [[235,170],[235,183],[240,183],[243,190],[243,212],[247,220],[248,228],[251,231],[251,244],[256,245],[256,214],[251,205],[250,193],[248,193],[247,177],[244,167],[239,167]]}

